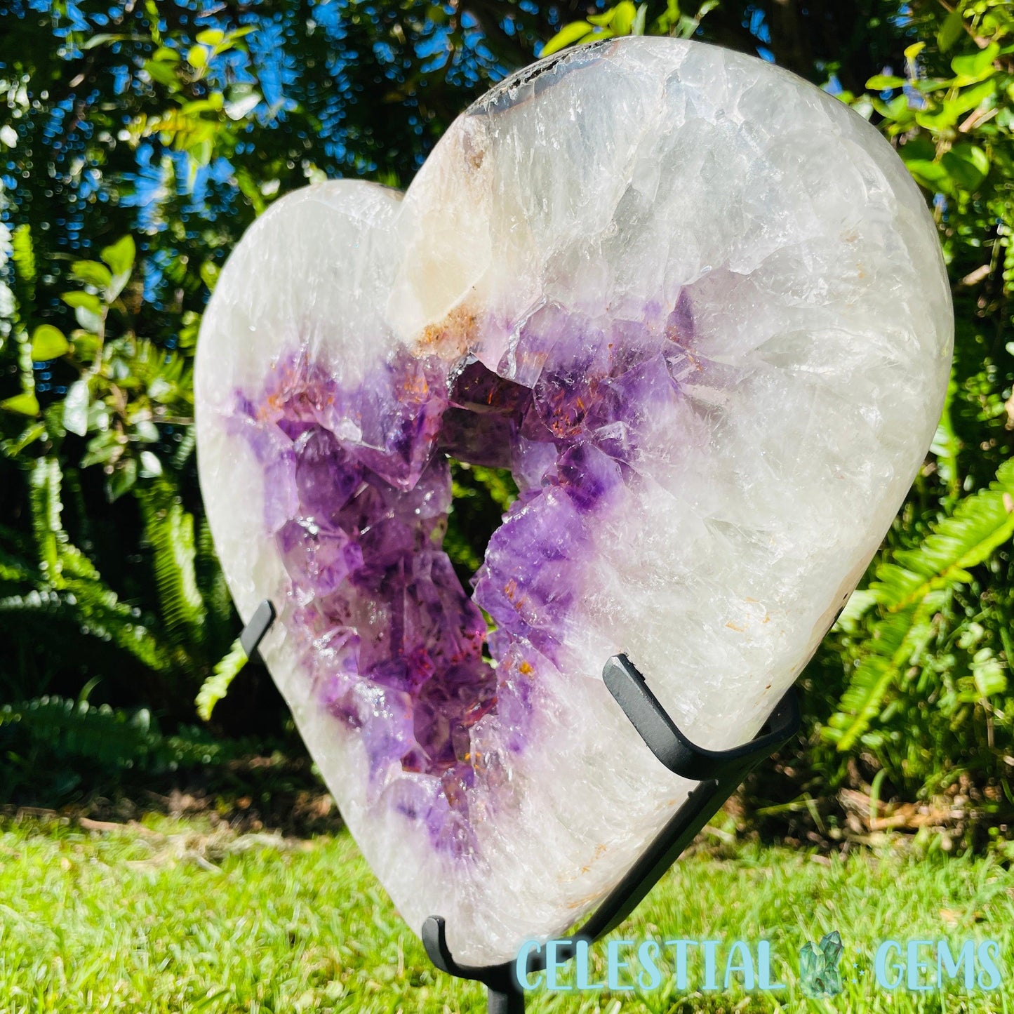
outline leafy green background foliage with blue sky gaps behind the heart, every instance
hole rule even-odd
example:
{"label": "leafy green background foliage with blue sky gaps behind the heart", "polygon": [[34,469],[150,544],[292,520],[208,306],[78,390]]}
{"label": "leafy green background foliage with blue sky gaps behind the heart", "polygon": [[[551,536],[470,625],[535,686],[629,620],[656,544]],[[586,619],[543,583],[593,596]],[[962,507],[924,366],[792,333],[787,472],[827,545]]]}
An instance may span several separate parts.
{"label": "leafy green background foliage with blue sky gaps behind the heart", "polygon": [[[933,453],[804,674],[812,736],[751,785],[754,815],[832,834],[846,790],[868,800],[868,825],[892,798],[943,796],[967,826],[1004,827],[1014,13],[1002,0],[0,7],[0,788],[38,788],[32,773],[67,756],[161,765],[163,740],[198,721],[202,684],[213,677],[207,716],[242,664],[198,495],[191,372],[245,227],[317,178],[407,186],[490,83],[540,52],[630,32],[759,55],[870,118],[925,189],[953,284]],[[447,547],[467,575],[511,487],[459,466],[454,494]],[[285,711],[247,668],[213,722],[187,742],[277,735]]]}

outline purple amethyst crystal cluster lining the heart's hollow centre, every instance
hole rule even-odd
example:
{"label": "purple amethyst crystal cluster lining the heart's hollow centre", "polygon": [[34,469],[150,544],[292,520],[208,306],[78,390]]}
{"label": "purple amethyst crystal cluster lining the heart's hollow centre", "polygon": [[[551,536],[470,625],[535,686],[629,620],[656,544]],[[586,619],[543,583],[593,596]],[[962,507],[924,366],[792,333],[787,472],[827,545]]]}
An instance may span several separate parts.
{"label": "purple amethyst crystal cluster lining the heart's hollow centre", "polygon": [[[514,372],[530,387],[475,359],[452,368],[400,348],[346,390],[302,351],[265,389],[237,392],[229,421],[268,480],[264,529],[320,707],[359,734],[385,802],[457,856],[476,848],[468,792],[483,758],[469,730],[497,715],[509,750],[523,749],[596,510],[631,475],[639,422],[679,397],[689,300],[609,341],[594,332],[559,308],[522,328],[515,356],[531,367]],[[359,435],[343,439],[350,421]],[[474,599],[440,548],[447,455],[510,468],[519,487]]]}

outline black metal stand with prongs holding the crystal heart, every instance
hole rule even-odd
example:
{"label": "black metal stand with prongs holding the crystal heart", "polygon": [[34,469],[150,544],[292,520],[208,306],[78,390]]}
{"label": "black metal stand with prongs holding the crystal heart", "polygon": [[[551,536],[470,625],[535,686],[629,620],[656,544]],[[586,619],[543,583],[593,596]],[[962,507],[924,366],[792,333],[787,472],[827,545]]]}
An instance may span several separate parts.
{"label": "black metal stand with prongs holding the crystal heart", "polygon": [[[274,619],[274,606],[265,600],[240,636],[247,656],[254,656]],[[557,958],[561,961],[574,956],[580,941],[593,943],[615,929],[641,903],[749,771],[799,730],[799,706],[796,692],[790,687],[750,742],[729,750],[704,749],[679,731],[626,655],[613,655],[605,663],[602,678],[659,762],[674,775],[699,784],[581,929],[568,937],[564,946],[558,947]],[[447,946],[441,916],[430,916],[423,923],[421,936],[426,953],[437,968],[456,979],[468,979],[486,986],[489,1014],[523,1014],[524,991],[517,981],[515,962],[483,966],[458,964]],[[528,955],[528,972],[545,967],[546,958],[541,952]]]}

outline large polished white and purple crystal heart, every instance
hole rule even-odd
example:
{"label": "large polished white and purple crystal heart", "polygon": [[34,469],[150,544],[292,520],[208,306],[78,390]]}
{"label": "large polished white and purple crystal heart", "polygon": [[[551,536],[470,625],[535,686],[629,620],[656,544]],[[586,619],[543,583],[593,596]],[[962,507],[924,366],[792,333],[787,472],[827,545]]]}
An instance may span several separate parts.
{"label": "large polished white and purple crystal heart", "polygon": [[[889,145],[758,60],[625,39],[515,75],[405,196],[276,202],[204,318],[201,480],[240,613],[409,925],[513,957],[693,783],[601,679],[748,739],[930,444],[950,297]],[[448,455],[517,502],[474,588]],[[487,613],[490,624],[483,611]]]}

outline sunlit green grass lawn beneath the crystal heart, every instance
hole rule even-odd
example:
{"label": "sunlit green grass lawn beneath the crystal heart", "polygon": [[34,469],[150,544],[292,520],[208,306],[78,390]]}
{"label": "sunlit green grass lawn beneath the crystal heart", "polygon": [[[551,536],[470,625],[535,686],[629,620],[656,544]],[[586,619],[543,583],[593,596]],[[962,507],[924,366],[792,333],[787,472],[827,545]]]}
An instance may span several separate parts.
{"label": "sunlit green grass lawn beneath the crystal heart", "polygon": [[[797,951],[839,930],[846,992],[797,991]],[[534,1012],[1014,1011],[1014,875],[993,859],[755,846],[686,857],[625,938],[772,942],[788,989],[690,996],[557,994]],[[1005,987],[887,993],[859,975],[883,939],[1001,944]],[[604,947],[596,947],[602,971]],[[724,959],[723,959],[724,960]],[[855,977],[856,982],[852,982]],[[0,825],[0,1011],[427,1012],[485,1010],[481,988],[435,972],[347,835],[235,836],[149,817],[142,828]]]}

